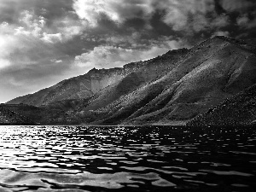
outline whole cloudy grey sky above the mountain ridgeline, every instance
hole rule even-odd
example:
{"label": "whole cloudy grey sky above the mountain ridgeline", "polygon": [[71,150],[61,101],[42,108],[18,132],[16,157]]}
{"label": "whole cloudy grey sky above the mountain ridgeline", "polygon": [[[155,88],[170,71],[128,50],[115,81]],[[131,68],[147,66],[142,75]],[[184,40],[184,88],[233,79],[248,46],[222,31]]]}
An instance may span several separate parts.
{"label": "whole cloudy grey sky above the mountain ridgeline", "polygon": [[215,35],[255,38],[254,0],[0,0],[0,102]]}

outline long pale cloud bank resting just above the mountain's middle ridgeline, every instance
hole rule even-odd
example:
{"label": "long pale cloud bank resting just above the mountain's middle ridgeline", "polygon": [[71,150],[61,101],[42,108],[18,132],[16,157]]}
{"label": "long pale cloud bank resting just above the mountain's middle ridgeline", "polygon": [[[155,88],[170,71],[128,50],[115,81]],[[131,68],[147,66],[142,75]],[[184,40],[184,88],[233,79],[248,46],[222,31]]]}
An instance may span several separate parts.
{"label": "long pale cloud bank resting just above the mountain's middle ridgeline", "polygon": [[[166,41],[163,43],[163,39]],[[125,49],[117,46],[102,45],[75,57],[75,64],[89,70],[92,67],[122,67],[131,61],[145,61],[162,55],[170,49],[183,47],[182,40],[162,38],[151,42],[150,49]]]}

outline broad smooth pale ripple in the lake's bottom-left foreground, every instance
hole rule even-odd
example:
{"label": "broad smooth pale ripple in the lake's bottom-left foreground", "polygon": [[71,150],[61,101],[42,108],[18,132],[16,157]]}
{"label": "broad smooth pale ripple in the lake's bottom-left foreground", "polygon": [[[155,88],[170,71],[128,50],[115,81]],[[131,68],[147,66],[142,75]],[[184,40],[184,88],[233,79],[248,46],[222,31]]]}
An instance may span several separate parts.
{"label": "broad smooth pale ripple in the lake's bottom-left foreground", "polygon": [[[96,187],[104,189],[121,189],[126,184],[142,184],[151,182],[155,186],[174,187],[175,183],[171,183],[154,172],[138,174],[131,172],[116,172],[113,174],[93,174],[90,172],[80,173],[64,173],[61,174],[49,172],[17,172],[13,170],[1,170],[0,186],[5,189],[24,189],[36,186],[38,189],[84,189],[87,187]],[[60,173],[60,172],[59,172]]]}

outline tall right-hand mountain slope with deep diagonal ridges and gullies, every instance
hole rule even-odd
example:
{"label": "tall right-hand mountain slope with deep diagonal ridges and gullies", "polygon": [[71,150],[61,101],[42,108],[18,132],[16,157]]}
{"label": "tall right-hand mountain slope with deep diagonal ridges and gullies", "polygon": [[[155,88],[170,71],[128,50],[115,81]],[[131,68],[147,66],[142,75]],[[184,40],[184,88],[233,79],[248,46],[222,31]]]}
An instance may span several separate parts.
{"label": "tall right-hand mountain slope with deep diagonal ridges and gullies", "polygon": [[96,115],[102,124],[191,119],[256,83],[253,51],[242,41],[211,38],[190,49],[168,73],[99,108]]}

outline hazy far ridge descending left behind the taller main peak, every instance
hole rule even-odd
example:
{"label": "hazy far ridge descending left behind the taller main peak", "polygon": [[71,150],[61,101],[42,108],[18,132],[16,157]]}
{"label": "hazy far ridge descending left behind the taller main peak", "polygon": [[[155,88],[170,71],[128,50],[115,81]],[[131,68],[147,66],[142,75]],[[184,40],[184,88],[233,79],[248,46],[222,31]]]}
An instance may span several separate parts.
{"label": "hazy far ridge descending left behind the taller main peak", "polygon": [[126,64],[124,67],[99,70],[93,68],[84,75],[63,80],[34,94],[17,97],[7,102],[7,104],[23,103],[42,106],[56,101],[87,98],[108,87],[108,85],[116,84],[126,75],[134,72],[140,72],[140,80],[147,82],[157,77],[167,67],[170,67],[171,63],[173,64],[182,58],[187,51],[188,49],[172,50],[152,60],[133,62]]}

